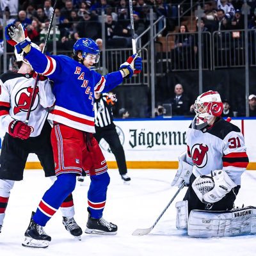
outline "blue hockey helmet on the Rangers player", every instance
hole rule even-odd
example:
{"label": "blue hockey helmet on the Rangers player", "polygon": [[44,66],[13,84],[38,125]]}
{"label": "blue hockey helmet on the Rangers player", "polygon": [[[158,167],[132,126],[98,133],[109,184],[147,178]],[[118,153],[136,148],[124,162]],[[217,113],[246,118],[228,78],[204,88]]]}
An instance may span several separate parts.
{"label": "blue hockey helmet on the Rangers player", "polygon": [[81,51],[83,58],[86,58],[87,54],[96,55],[95,63],[97,63],[99,61],[99,58],[100,58],[99,46],[91,38],[78,39],[76,41],[76,43],[74,44],[73,49],[74,49],[74,54],[76,54],[77,51]]}

